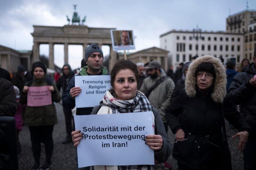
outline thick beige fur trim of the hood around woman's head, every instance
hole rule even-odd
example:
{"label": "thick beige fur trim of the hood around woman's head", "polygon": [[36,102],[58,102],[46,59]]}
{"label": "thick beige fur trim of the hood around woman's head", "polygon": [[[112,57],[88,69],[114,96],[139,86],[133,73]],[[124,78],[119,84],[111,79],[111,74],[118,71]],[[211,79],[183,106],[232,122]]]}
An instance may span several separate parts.
{"label": "thick beige fur trim of the hood around woman's head", "polygon": [[194,60],[188,67],[188,73],[186,75],[185,90],[189,97],[196,96],[196,68],[203,62],[212,63],[216,74],[215,81],[213,82],[213,91],[211,94],[212,100],[216,103],[222,103],[226,96],[226,70],[222,65],[220,59],[210,55],[204,55]]}

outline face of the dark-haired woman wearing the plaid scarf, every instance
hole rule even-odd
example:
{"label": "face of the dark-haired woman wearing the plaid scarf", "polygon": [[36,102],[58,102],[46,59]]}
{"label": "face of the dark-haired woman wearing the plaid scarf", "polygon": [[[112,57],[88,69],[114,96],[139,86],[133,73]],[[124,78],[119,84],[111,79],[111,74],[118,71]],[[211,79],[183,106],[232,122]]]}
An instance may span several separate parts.
{"label": "face of the dark-haired woman wearing the plaid scarf", "polygon": [[135,74],[130,69],[120,70],[115,77],[114,90],[117,99],[132,99],[137,91],[137,81]]}

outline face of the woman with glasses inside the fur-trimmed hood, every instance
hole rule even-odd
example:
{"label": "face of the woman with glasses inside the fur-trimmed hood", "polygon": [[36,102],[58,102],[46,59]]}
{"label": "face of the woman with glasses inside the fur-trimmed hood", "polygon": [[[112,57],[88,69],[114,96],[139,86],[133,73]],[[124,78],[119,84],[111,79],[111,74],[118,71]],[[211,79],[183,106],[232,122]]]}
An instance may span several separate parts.
{"label": "face of the woman with glasses inside the fur-trimmed hood", "polygon": [[206,90],[212,86],[214,77],[206,71],[199,71],[196,74],[197,86],[200,90]]}

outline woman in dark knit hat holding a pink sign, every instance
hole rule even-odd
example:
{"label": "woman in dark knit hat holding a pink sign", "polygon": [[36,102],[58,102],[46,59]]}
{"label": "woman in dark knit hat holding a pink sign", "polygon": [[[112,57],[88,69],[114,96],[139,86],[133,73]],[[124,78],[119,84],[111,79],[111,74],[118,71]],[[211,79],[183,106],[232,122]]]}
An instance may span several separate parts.
{"label": "woman in dark knit hat holding a pink sign", "polygon": [[[33,88],[34,91],[31,91]],[[42,91],[42,88],[45,88]],[[44,101],[44,97],[51,96],[49,101]],[[37,100],[40,102],[29,103]],[[53,102],[60,102],[60,94],[55,82],[47,79],[46,66],[42,62],[36,63],[33,68],[33,80],[28,81],[20,95],[20,103],[27,104],[25,110],[25,124],[28,125],[35,164],[32,170],[40,168],[41,141],[45,144],[46,160],[41,169],[52,167],[51,157],[53,151],[52,131],[54,124],[57,124],[56,108]]]}

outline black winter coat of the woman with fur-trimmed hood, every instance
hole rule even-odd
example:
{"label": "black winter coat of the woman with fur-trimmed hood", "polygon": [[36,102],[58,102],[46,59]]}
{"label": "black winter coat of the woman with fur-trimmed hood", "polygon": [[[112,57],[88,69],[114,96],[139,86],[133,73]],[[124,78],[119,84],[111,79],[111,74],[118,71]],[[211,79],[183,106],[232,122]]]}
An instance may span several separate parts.
{"label": "black winter coat of the woman with fur-trimmed hood", "polygon": [[[172,156],[190,168],[207,169],[219,162],[221,103],[213,101],[212,90],[202,94],[196,88],[193,98],[182,90],[165,113],[173,134],[178,129],[185,132],[184,140],[175,141]],[[224,99],[224,116],[239,131],[250,132],[245,119],[227,98]]]}

